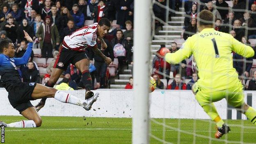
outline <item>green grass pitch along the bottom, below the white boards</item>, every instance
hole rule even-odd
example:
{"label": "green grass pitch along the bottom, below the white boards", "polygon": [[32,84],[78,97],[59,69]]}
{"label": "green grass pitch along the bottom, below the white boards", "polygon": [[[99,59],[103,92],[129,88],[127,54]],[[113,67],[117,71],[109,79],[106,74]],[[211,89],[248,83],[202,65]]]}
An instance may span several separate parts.
{"label": "green grass pitch along the bottom, below the white boards", "polygon": [[[0,116],[7,123],[25,120],[17,116]],[[6,144],[131,144],[132,119],[88,117],[42,117],[39,128],[5,128]],[[165,122],[165,126],[163,123]],[[195,125],[194,125],[195,123]],[[256,143],[256,126],[250,121],[229,120],[231,132],[221,141],[214,138],[215,126],[208,120],[153,119],[151,144],[233,144]],[[241,127],[243,123],[243,128]],[[178,133],[176,128],[180,128]],[[184,132],[184,133],[183,133]],[[195,135],[192,135],[195,132]],[[209,139],[208,137],[211,137]],[[180,139],[178,139],[180,137]],[[227,139],[227,142],[223,140]]]}

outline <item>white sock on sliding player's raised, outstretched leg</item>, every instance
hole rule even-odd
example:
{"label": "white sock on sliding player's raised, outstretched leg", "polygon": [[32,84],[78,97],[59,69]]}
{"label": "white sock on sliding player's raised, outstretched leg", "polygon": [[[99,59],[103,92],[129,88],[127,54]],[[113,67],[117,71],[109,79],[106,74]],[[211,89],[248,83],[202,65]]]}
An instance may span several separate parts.
{"label": "white sock on sliding player's raised, outstretched leg", "polygon": [[74,105],[79,105],[79,106],[83,106],[82,103],[85,102],[85,100],[81,100],[80,98],[77,98],[71,94],[67,94],[59,90],[56,91],[54,98],[63,103],[72,103]]}

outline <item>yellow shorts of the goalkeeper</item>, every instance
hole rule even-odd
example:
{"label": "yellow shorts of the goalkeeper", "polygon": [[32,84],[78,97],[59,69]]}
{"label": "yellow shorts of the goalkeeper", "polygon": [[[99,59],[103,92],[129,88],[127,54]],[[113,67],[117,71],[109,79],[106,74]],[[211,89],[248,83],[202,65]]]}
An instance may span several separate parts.
{"label": "yellow shorts of the goalkeeper", "polygon": [[198,103],[202,107],[209,103],[220,101],[223,98],[226,98],[229,105],[232,105],[233,107],[240,107],[245,103],[242,89],[243,85],[240,81],[234,87],[208,93],[201,91],[197,82],[192,86],[192,91],[195,94]]}

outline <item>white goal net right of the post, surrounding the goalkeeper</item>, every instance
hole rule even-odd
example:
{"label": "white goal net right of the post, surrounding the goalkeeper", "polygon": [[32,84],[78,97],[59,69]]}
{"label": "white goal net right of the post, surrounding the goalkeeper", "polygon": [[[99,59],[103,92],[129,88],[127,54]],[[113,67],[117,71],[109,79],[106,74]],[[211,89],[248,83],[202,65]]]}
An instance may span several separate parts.
{"label": "white goal net right of the post, surrounding the goalkeeper", "polygon": [[[221,2],[221,0],[219,1]],[[237,109],[228,105],[225,99],[216,102],[215,106],[220,117],[231,127],[231,132],[220,139],[216,139],[215,122],[203,111],[192,91],[184,90],[191,89],[189,87],[197,79],[197,66],[193,57],[185,59],[178,65],[169,65],[157,55],[158,50],[162,47],[175,52],[182,46],[187,37],[198,32],[197,14],[202,9],[213,11],[216,16],[215,30],[230,33],[239,41],[254,47],[256,44],[254,35],[256,18],[254,19],[252,16],[255,16],[256,8],[251,11],[254,4],[250,3],[249,0],[244,0],[243,3],[240,2],[242,0],[235,0],[234,2],[223,0],[224,3],[228,4],[227,7],[223,7],[224,5],[219,1],[151,0],[149,9],[152,16],[152,41],[149,73],[153,78],[157,77],[155,79],[161,81],[158,85],[159,88],[149,94],[150,128],[148,135],[149,142],[152,144],[252,144],[256,142],[254,137],[256,126],[247,120],[244,114],[240,114]],[[248,16],[249,18],[247,18]],[[234,57],[235,53],[231,55]],[[242,67],[238,68],[238,73],[246,90],[249,80],[252,80],[253,72],[256,70],[254,59],[242,57],[233,60],[238,65],[242,64]],[[251,68],[248,65],[251,65]],[[172,83],[176,78],[177,80],[180,79],[183,85]],[[245,102],[255,108],[256,92],[245,91],[244,93]]]}

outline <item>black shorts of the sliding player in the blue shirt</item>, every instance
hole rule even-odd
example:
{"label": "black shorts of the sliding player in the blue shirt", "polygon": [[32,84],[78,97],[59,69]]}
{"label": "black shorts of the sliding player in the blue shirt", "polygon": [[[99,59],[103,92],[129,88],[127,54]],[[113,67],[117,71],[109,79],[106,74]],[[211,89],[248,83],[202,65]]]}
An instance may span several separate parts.
{"label": "black shorts of the sliding player in the blue shirt", "polygon": [[11,106],[18,110],[21,114],[28,107],[33,107],[30,101],[34,100],[31,95],[37,83],[34,82],[15,82],[8,89],[8,99]]}

